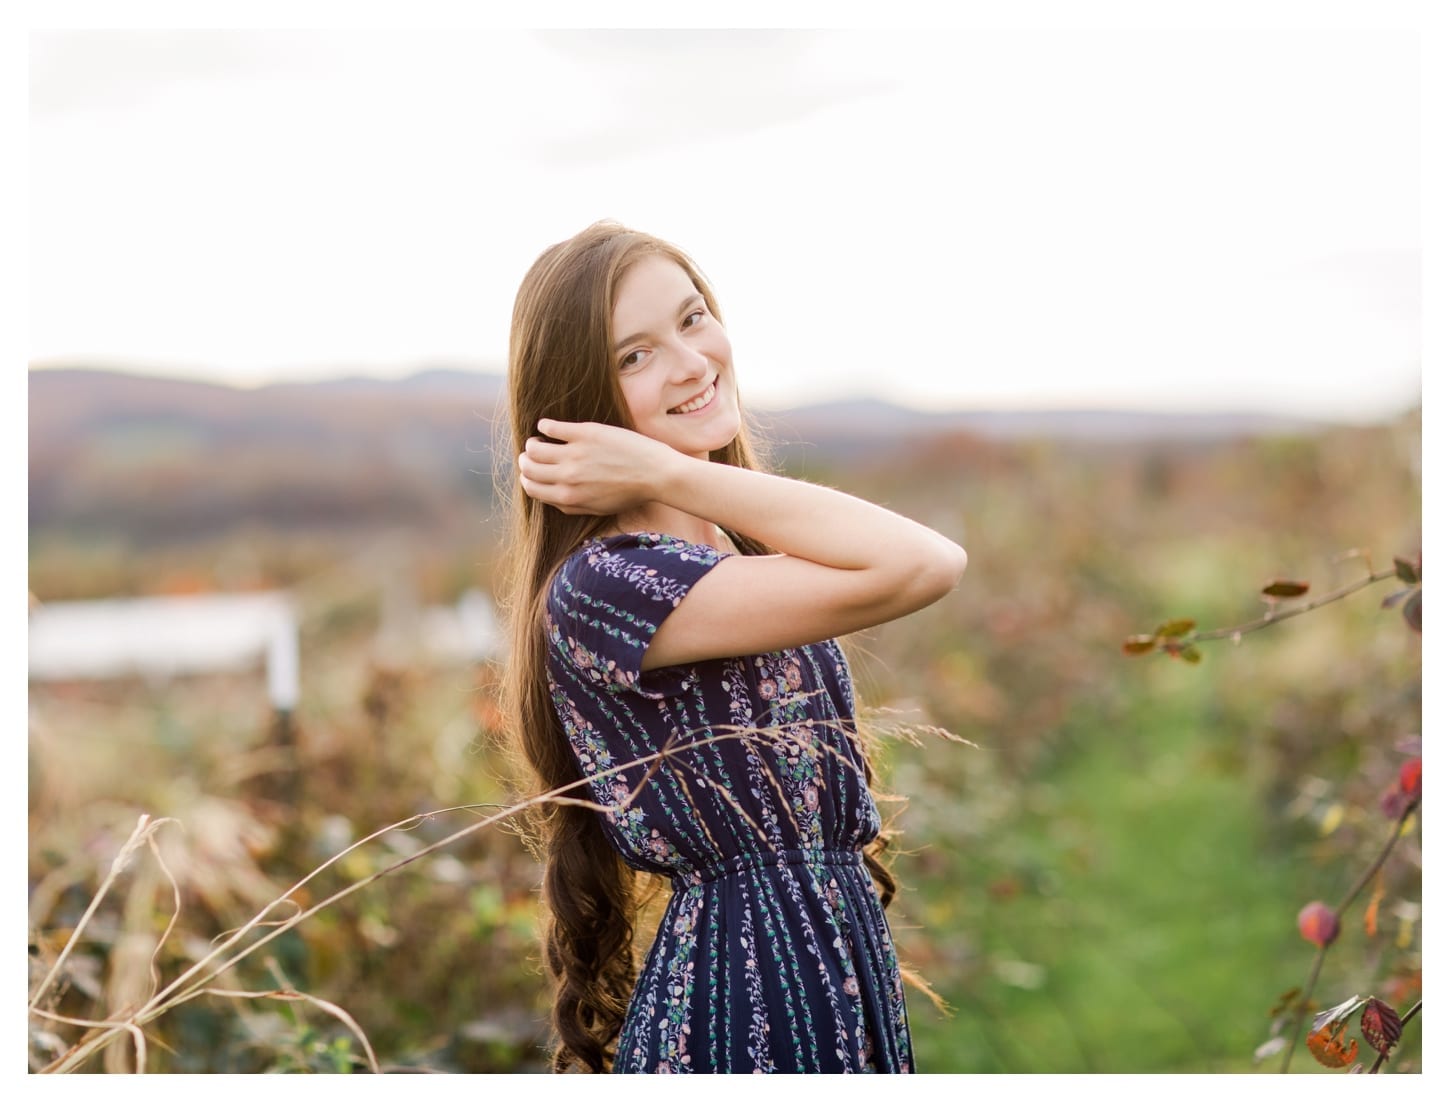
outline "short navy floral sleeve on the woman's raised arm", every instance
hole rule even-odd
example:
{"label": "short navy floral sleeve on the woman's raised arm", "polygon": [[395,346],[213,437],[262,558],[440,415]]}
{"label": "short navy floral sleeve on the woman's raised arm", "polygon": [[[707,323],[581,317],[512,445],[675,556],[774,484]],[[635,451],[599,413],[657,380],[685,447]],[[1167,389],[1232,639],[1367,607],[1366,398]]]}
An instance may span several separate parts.
{"label": "short navy floral sleeve on the woman's raised arm", "polygon": [[658,534],[593,539],[570,555],[548,593],[551,661],[606,692],[673,696],[684,666],[641,671],[655,631],[725,552]]}

